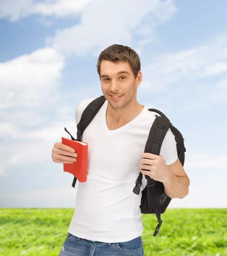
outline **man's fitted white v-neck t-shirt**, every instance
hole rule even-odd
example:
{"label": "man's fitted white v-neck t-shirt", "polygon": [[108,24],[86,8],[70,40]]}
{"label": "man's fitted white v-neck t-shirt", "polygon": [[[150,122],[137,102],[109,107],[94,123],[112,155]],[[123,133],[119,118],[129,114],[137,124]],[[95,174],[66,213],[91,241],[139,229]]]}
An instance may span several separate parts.
{"label": "man's fitted white v-neck t-shirt", "polygon": [[[77,105],[77,124],[94,99]],[[74,215],[68,232],[91,241],[115,243],[130,241],[143,232],[139,208],[142,193],[134,194],[133,188],[140,172],[141,154],[156,116],[144,107],[131,122],[111,131],[105,120],[107,105],[106,100],[82,135],[82,141],[88,143],[87,180],[83,183],[77,180]],[[170,129],[160,154],[166,165],[178,158]],[[146,182],[143,175],[141,191]]]}

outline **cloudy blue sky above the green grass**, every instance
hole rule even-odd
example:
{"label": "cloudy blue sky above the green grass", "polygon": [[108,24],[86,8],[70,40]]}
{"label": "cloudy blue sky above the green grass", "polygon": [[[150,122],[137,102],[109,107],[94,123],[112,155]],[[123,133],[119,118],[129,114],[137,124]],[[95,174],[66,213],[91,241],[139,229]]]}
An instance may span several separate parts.
{"label": "cloudy blue sky above the green grass", "polygon": [[51,150],[64,127],[76,136],[77,104],[102,95],[96,61],[112,44],[138,52],[138,102],[185,139],[189,195],[170,207],[227,207],[227,2],[131,3],[0,1],[0,207],[74,207]]}

